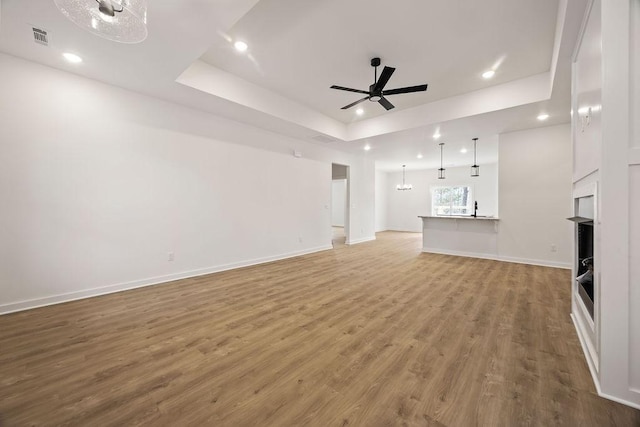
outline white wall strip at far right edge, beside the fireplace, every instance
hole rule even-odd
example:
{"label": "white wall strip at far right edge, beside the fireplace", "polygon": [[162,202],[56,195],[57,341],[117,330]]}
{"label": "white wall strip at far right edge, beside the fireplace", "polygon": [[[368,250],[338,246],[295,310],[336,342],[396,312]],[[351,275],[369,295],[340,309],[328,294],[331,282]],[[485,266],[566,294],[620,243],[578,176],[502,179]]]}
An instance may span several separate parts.
{"label": "white wall strip at far right edge, beside the fireplace", "polygon": [[[633,132],[637,55],[637,1],[602,1],[602,150],[600,157],[600,391],[640,409],[640,262],[635,202],[640,151]],[[636,63],[637,65],[637,63]],[[632,114],[633,113],[633,114]],[[637,135],[635,135],[637,138]],[[635,190],[635,191],[634,191]]]}

